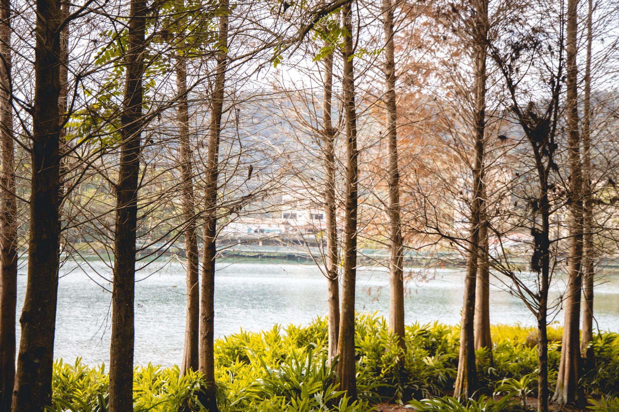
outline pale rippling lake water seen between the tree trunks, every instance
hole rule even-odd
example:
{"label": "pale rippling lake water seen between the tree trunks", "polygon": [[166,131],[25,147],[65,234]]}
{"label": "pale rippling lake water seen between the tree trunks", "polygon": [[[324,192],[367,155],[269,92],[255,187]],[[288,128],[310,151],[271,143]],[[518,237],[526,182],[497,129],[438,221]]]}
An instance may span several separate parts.
{"label": "pale rippling lake water seen between the tree trunks", "polygon": [[[327,313],[326,280],[316,266],[244,261],[217,265],[215,278],[215,335],[270,329],[274,324],[305,325]],[[18,308],[25,293],[25,268],[18,279]],[[420,272],[434,278],[407,285],[406,322],[460,321],[462,272],[437,269]],[[108,363],[110,345],[110,269],[100,262],[67,263],[61,269],[54,356],[87,364]],[[100,276],[101,275],[101,276]],[[136,364],[170,366],[181,361],[185,325],[184,267],[175,261],[154,263],[136,279]],[[564,287],[560,280],[557,288]],[[357,310],[387,316],[388,275],[378,269],[357,275]],[[595,291],[595,316],[602,330],[619,331],[619,277],[608,276]],[[19,319],[20,310],[17,317]],[[556,316],[563,321],[562,314]],[[517,298],[491,288],[493,323],[534,324]],[[19,334],[19,322],[17,322]],[[17,337],[19,342],[19,335]]]}

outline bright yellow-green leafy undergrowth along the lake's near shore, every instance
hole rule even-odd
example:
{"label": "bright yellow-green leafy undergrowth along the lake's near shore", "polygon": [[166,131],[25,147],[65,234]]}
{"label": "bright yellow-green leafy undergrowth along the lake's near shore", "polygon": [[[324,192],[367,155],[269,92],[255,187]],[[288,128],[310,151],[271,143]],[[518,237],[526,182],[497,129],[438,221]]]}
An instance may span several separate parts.
{"label": "bright yellow-green leafy undergrowth along the lake's near shore", "polygon": [[[275,326],[241,331],[215,343],[218,403],[222,412],[363,412],[379,401],[407,403],[422,411],[521,410],[537,390],[535,330],[493,326],[493,350],[477,351],[480,397],[464,404],[447,397],[457,369],[459,328],[442,324],[406,327],[406,348],[397,345],[383,318],[359,314],[355,331],[359,400],[343,397],[327,360],[327,323],[317,318],[306,327]],[[561,330],[550,329],[550,389],[560,358]],[[584,376],[586,392],[610,400],[594,408],[612,409],[619,381],[619,335],[605,333],[592,343],[596,367]],[[492,355],[492,356],[490,356]],[[200,412],[204,381],[198,372],[181,376],[177,366],[147,365],[134,371],[134,411]],[[50,412],[106,412],[108,376],[104,366],[54,364],[54,405]],[[412,400],[412,401],[411,401]],[[415,401],[422,400],[422,401]],[[594,409],[603,411],[604,409]]]}

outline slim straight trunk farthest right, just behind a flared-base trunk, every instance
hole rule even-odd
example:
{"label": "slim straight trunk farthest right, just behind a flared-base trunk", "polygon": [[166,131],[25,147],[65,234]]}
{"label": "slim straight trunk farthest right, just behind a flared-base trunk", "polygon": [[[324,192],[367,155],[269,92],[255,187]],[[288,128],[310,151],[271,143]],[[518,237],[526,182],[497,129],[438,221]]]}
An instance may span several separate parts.
{"label": "slim straight trunk farthest right, just behind a flared-base trunk", "polygon": [[593,348],[589,343],[593,340],[593,277],[594,246],[593,246],[593,201],[591,198],[591,44],[593,0],[589,0],[587,14],[587,61],[584,72],[584,99],[582,102],[582,189],[584,199],[584,237],[582,267],[584,274],[584,305],[582,308],[582,338],[581,353],[586,369],[593,365]]}

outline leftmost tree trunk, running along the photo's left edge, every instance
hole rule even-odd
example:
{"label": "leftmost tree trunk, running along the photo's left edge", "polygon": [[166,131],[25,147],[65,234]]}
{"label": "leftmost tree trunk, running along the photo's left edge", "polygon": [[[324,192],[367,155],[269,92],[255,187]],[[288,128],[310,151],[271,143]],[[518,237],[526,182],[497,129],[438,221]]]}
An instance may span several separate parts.
{"label": "leftmost tree trunk, running along the photo's left edge", "polygon": [[11,4],[0,1],[0,411],[11,411],[15,380],[17,204],[11,106]]}

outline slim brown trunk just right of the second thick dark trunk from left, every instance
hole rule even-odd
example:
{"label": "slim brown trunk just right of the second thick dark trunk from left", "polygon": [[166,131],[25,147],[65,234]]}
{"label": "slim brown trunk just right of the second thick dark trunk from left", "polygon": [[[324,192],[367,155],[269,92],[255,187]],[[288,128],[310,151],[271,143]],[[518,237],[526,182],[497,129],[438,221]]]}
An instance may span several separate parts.
{"label": "slim brown trunk just right of the second thick dark trunk from left", "polygon": [[182,56],[176,56],[176,93],[180,97],[176,116],[178,117],[178,141],[181,169],[181,198],[183,202],[187,283],[187,315],[185,321],[185,343],[181,373],[189,369],[197,371],[200,326],[200,287],[198,284],[198,251],[196,235],[196,209],[193,193],[193,154],[189,142],[189,105],[187,96],[187,73]]}

